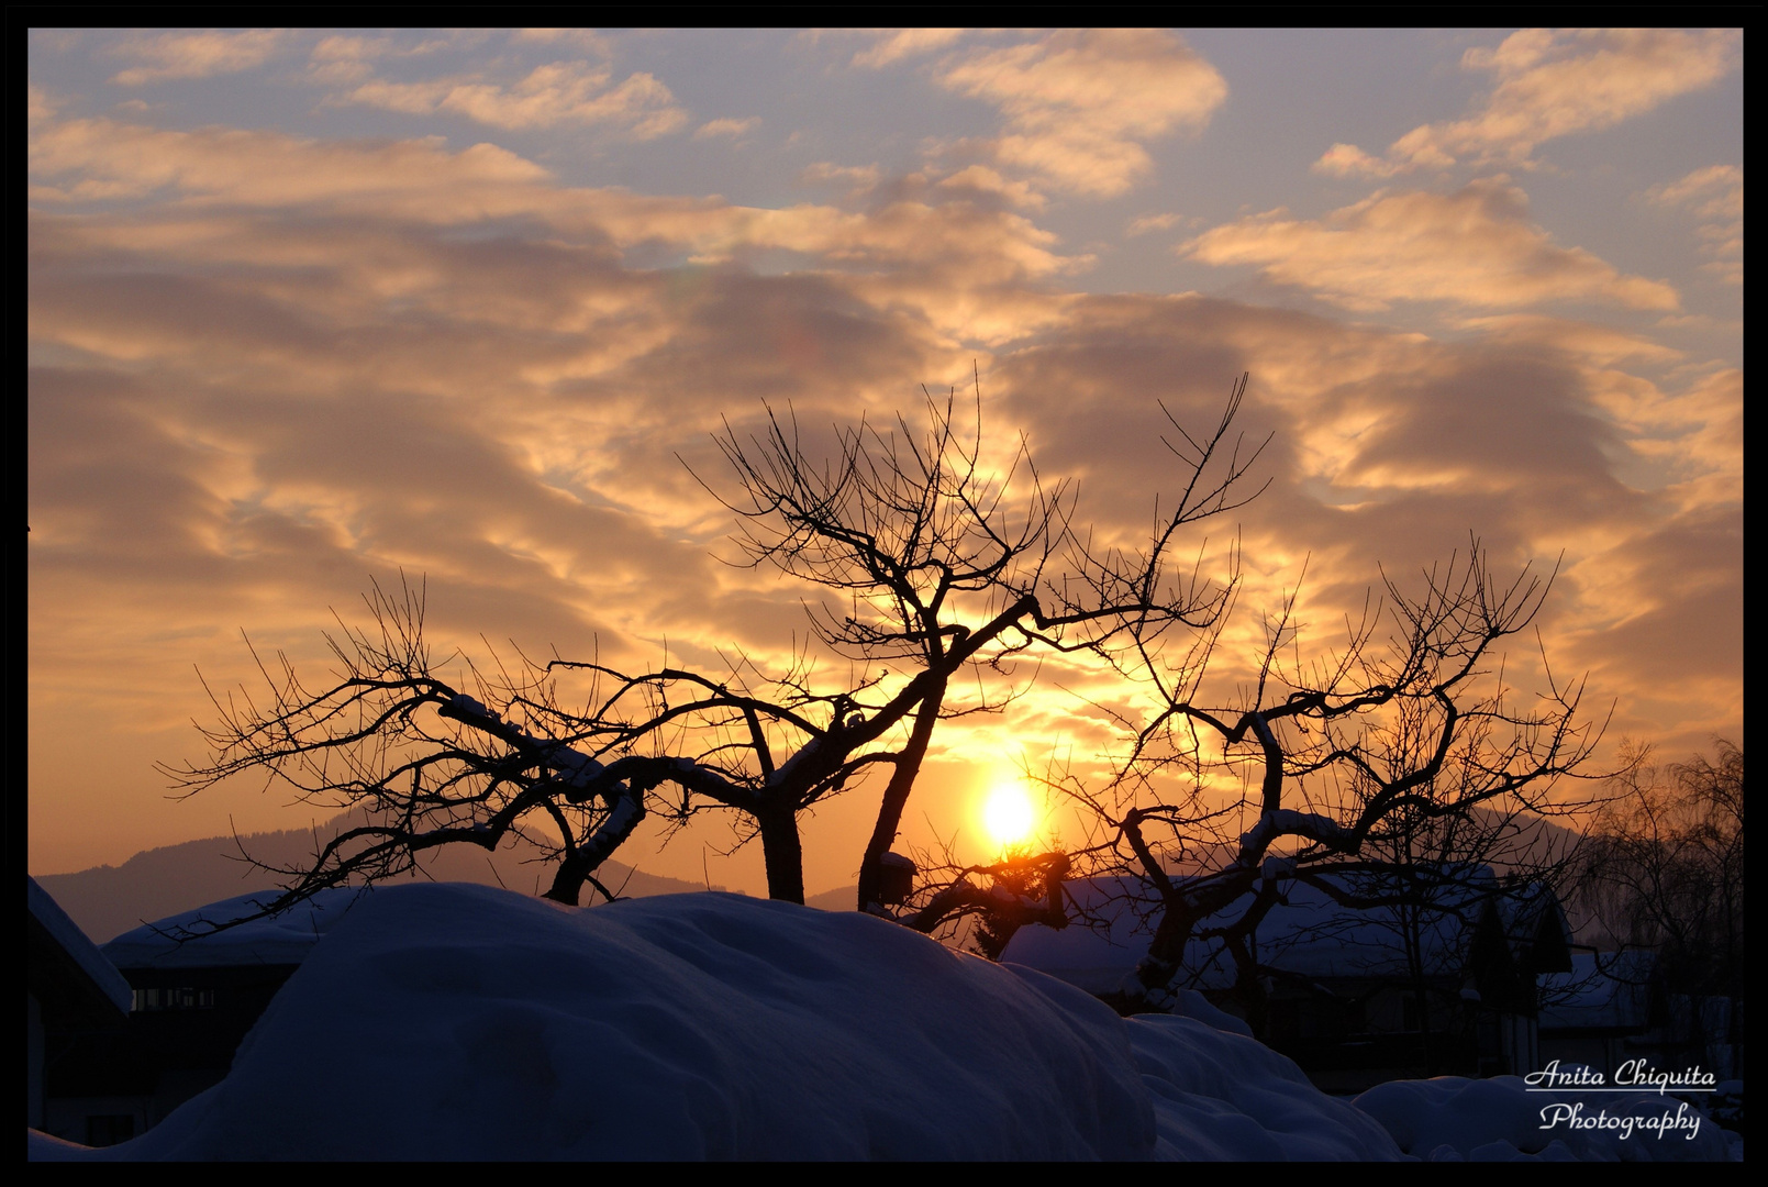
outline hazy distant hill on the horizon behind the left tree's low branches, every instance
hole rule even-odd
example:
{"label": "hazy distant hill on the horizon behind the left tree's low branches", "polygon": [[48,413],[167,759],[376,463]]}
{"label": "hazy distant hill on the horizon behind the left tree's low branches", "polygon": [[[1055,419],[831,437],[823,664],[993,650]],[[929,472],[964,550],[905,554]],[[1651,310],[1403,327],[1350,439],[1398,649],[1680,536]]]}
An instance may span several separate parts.
{"label": "hazy distant hill on the horizon behind the left tree's low branches", "polygon": [[[322,824],[318,835],[332,837],[338,830],[357,823],[361,817],[338,816]],[[239,842],[232,837],[186,840],[180,846],[145,849],[122,865],[95,865],[76,874],[44,874],[37,877],[37,885],[55,897],[94,943],[106,943],[168,915],[233,895],[272,890],[276,876],[240,860],[240,846],[258,862],[292,867],[311,858],[313,837],[309,830],[286,830],[251,833]],[[500,849],[490,854],[472,846],[442,846],[424,862],[424,870],[438,883],[483,883],[539,893],[545,890],[543,879],[550,879],[550,870],[527,862],[529,856],[532,851]],[[633,899],[705,890],[700,883],[644,874],[619,862],[603,863],[598,877],[608,890]],[[845,893],[845,906],[850,907],[856,892],[829,893]],[[819,895],[822,897],[827,895]],[[587,899],[589,895],[585,902]]]}

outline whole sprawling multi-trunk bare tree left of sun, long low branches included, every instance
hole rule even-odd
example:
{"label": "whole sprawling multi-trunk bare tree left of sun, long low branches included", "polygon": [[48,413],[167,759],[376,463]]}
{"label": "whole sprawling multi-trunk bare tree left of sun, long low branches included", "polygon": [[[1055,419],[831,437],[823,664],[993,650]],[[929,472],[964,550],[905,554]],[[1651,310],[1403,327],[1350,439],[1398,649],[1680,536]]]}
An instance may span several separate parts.
{"label": "whole sprawling multi-trunk bare tree left of sun, long low branches included", "polygon": [[[217,699],[219,724],[203,731],[212,759],[166,773],[194,793],[263,771],[311,801],[371,810],[309,869],[283,870],[281,909],[410,869],[435,846],[490,849],[511,833],[543,846],[548,897],[575,904],[647,814],[682,824],[705,810],[760,839],[771,897],[803,902],[799,814],[882,768],[859,863],[859,906],[882,911],[880,862],[941,720],[1001,711],[1024,690],[1013,660],[1029,651],[1112,655],[1216,623],[1234,577],[1174,571],[1169,550],[1183,527],[1257,495],[1241,486],[1259,449],[1229,442],[1245,386],[1213,433],[1174,423],[1183,488],[1139,550],[1094,550],[1071,522],[1073,486],[1045,485],[1024,439],[1004,467],[983,458],[979,384],[969,416],[955,393],[928,396],[921,430],[861,419],[836,428],[827,456],[771,409],[760,435],[727,425],[718,444],[735,486],[707,488],[739,517],[750,564],[842,600],[808,610],[847,679],[819,676],[808,653],[776,674],[743,655],[716,674],[518,656],[495,674],[470,669],[472,688],[458,688],[423,640],[421,594],[377,587],[373,628],[329,637],[339,667],[327,685],[308,688],[286,660],[260,665],[267,704]],[[974,695],[953,693],[960,676],[976,678]]]}

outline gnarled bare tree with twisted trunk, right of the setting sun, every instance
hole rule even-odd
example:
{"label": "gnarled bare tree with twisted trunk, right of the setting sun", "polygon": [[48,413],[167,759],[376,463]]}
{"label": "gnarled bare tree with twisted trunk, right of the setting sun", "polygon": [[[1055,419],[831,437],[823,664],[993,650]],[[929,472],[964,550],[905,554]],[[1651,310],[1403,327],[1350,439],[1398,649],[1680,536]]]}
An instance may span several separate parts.
{"label": "gnarled bare tree with twisted trunk, right of the setting sun", "polygon": [[1255,936],[1285,885],[1353,907],[1430,911],[1459,863],[1490,856],[1519,821],[1570,810],[1554,789],[1581,775],[1602,734],[1579,711],[1582,683],[1554,679],[1543,655],[1545,686],[1519,706],[1496,651],[1533,623],[1552,575],[1526,568],[1505,584],[1475,540],[1423,577],[1416,596],[1383,577],[1386,598],[1312,662],[1291,594],[1227,706],[1204,701],[1225,616],[1176,660],[1158,640],[1140,646],[1158,713],[1124,722],[1126,754],[1105,789],[1059,782],[1098,821],[1091,849],[1109,858],[1093,870],[1124,874],[1160,904],[1130,1008],[1165,1003],[1200,939],[1232,959],[1255,1014],[1266,971]]}

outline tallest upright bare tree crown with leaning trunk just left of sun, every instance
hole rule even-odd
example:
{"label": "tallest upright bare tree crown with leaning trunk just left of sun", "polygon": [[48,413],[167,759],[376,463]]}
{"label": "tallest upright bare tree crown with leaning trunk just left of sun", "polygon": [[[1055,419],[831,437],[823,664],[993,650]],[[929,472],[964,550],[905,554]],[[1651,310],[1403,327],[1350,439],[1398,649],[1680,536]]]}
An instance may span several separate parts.
{"label": "tallest upright bare tree crown with leaning trunk just left of sun", "polygon": [[[1241,456],[1236,442],[1220,458],[1245,387],[1241,377],[1202,442],[1174,421],[1185,437],[1174,455],[1188,481],[1149,547],[1135,554],[1091,550],[1091,532],[1073,531],[1073,488],[1045,488],[1024,439],[1006,476],[987,476],[979,387],[967,439],[948,398],[942,407],[928,402],[932,428],[919,440],[900,417],[891,435],[865,423],[843,432],[834,465],[819,467],[796,426],[771,416],[764,440],[737,442],[728,432],[720,440],[741,486],[727,506],[741,517],[751,563],[849,596],[845,607],[812,610],[813,630],[833,651],[914,672],[889,699],[852,693],[854,738],[870,741],[898,722],[909,725],[896,750],[870,759],[889,766],[889,782],[859,865],[861,909],[879,902],[879,862],[896,839],[937,722],[999,708],[987,695],[953,706],[960,672],[1002,674],[1034,646],[1110,651],[1172,626],[1208,628],[1220,616],[1232,586],[1211,586],[1195,570],[1172,575],[1167,550],[1181,527],[1257,495],[1236,483],[1259,449]],[[1029,497],[1010,511],[1006,495],[1020,476]]]}

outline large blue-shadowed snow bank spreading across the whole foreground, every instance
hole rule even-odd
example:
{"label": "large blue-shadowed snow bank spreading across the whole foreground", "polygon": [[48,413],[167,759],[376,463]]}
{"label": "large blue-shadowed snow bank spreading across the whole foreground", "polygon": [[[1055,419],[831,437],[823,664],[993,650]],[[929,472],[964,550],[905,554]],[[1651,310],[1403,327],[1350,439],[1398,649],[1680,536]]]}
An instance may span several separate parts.
{"label": "large blue-shadowed snow bank spreading across the whole foreground", "polygon": [[1520,1081],[1326,1097],[1202,1017],[1119,1019],[1043,973],[854,913],[720,893],[569,909],[405,885],[364,895],[311,945],[221,1084],[134,1141],[85,1150],[34,1132],[30,1157],[1727,1153],[1710,1123],[1696,1141],[1595,1130],[1552,1145],[1536,1102]]}

